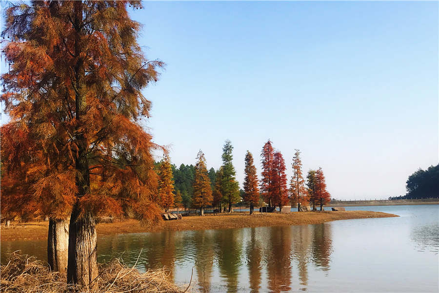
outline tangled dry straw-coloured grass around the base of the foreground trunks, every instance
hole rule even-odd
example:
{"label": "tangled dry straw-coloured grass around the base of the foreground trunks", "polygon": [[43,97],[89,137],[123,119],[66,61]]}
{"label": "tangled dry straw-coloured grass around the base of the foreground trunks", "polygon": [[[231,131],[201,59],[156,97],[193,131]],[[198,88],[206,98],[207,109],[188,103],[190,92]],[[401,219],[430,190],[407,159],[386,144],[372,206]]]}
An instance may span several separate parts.
{"label": "tangled dry straw-coloured grass around the base of the foreground trunks", "polygon": [[1,293],[182,293],[188,288],[172,283],[166,268],[139,273],[126,267],[119,259],[99,265],[98,286],[94,290],[66,284],[65,275],[50,271],[34,256],[16,252],[10,255],[9,262],[2,265],[0,271]]}

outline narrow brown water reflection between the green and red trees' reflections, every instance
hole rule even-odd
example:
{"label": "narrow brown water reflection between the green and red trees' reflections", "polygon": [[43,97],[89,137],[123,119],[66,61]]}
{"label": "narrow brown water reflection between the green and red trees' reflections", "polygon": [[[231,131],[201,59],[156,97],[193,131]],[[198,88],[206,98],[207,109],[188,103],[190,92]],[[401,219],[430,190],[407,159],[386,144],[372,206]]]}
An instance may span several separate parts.
{"label": "narrow brown water reflection between the green and red trees' reflections", "polygon": [[258,293],[260,288],[262,249],[260,240],[256,235],[256,229],[251,228],[250,239],[247,241],[246,258],[248,268],[248,278],[250,283],[250,292]]}

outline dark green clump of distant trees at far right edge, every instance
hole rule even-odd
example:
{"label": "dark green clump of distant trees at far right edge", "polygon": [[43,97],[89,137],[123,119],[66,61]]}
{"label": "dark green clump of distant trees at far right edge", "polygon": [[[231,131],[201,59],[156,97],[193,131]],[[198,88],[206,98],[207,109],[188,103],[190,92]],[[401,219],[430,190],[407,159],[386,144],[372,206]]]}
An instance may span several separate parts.
{"label": "dark green clump of distant trees at far right edge", "polygon": [[389,199],[420,199],[439,197],[439,164],[426,170],[419,168],[406,182],[407,194]]}

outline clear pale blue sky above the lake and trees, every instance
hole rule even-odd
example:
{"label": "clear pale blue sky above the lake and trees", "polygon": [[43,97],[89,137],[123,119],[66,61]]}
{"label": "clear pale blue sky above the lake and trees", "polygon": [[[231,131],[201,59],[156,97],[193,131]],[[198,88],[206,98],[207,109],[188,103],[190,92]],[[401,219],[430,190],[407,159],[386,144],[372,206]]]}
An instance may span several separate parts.
{"label": "clear pale blue sky above the lake and trees", "polygon": [[437,1],[143,5],[140,45],[167,64],[145,129],[177,166],[201,149],[218,169],[229,139],[242,187],[246,151],[260,176],[270,139],[288,180],[300,149],[303,172],[349,200],[404,195],[438,164]]}

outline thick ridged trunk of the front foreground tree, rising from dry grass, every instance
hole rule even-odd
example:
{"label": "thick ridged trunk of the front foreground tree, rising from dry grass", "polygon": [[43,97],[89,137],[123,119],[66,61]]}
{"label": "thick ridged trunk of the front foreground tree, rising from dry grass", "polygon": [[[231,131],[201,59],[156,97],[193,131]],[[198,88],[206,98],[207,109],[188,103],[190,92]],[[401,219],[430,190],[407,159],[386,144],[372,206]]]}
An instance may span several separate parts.
{"label": "thick ridged trunk of the front foreground tree, rising from dry grass", "polygon": [[67,282],[92,289],[98,276],[96,221],[90,211],[83,211],[83,215],[80,212],[76,204],[69,225]]}

